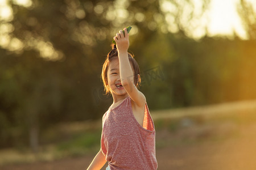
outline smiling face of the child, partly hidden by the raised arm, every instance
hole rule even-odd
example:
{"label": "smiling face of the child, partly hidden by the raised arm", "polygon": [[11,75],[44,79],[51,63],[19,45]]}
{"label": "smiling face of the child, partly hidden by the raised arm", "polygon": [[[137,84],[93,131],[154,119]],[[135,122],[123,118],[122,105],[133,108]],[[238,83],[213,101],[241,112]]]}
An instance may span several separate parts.
{"label": "smiling face of the child, partly hidden by the raised arm", "polygon": [[109,62],[108,85],[112,95],[121,96],[127,94],[125,88],[123,88],[121,84],[118,57],[113,58],[112,61]]}

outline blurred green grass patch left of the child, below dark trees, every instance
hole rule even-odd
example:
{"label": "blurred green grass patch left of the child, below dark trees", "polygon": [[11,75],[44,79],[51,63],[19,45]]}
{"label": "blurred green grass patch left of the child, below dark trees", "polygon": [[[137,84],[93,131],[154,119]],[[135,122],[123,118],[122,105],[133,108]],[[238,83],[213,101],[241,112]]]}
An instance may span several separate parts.
{"label": "blurred green grass patch left of the child, below dark trees", "polygon": [[[53,161],[96,153],[100,150],[101,129],[93,127],[86,130],[68,131],[65,137],[60,134],[58,128],[55,128],[51,131],[51,137],[48,138],[55,142],[40,146],[36,154],[24,147],[20,150],[15,148],[0,150],[0,165]],[[54,134],[56,134],[55,138],[59,139],[55,139]]]}

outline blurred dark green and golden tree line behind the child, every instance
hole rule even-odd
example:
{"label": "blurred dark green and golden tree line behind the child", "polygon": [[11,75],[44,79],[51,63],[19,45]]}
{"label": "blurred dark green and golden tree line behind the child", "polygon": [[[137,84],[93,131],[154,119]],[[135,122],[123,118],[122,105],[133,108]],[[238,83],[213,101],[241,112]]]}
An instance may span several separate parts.
{"label": "blurred dark green and golden tree line behind the child", "polygon": [[[11,24],[10,39],[23,45],[0,48],[0,147],[27,146],[31,129],[40,139],[41,131],[58,122],[101,118],[112,102],[103,95],[102,63],[113,34],[124,25],[133,26],[130,50],[150,109],[256,98],[255,41],[195,41],[184,30],[163,33],[159,1],[122,2],[33,1],[26,8],[10,1],[14,17],[0,25]],[[127,8],[126,20],[111,15],[121,7]],[[94,142],[77,141],[83,142],[61,147]]]}

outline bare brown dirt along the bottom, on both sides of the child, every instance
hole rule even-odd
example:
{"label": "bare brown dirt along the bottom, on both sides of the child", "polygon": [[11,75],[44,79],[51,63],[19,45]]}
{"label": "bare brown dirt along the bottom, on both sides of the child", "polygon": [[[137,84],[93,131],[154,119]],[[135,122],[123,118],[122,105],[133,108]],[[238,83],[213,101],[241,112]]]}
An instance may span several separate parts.
{"label": "bare brown dirt along the bottom, on both sides of the child", "polygon": [[[156,150],[158,169],[254,170],[256,168],[256,124],[243,125],[238,130],[238,135],[221,141],[177,143],[158,148]],[[86,169],[93,157],[94,154],[54,162],[6,165],[0,169],[80,170]]]}

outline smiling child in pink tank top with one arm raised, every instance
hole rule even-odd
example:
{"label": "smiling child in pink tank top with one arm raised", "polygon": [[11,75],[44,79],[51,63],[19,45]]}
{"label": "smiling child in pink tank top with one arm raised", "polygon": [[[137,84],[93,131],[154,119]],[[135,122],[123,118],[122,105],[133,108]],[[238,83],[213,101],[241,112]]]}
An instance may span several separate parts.
{"label": "smiling child in pink tank top with one arm raised", "polygon": [[106,93],[113,104],[102,118],[101,150],[89,169],[156,169],[155,127],[146,98],[138,90],[139,66],[127,52],[129,35],[119,31],[114,37],[117,46],[109,52],[102,68]]}

